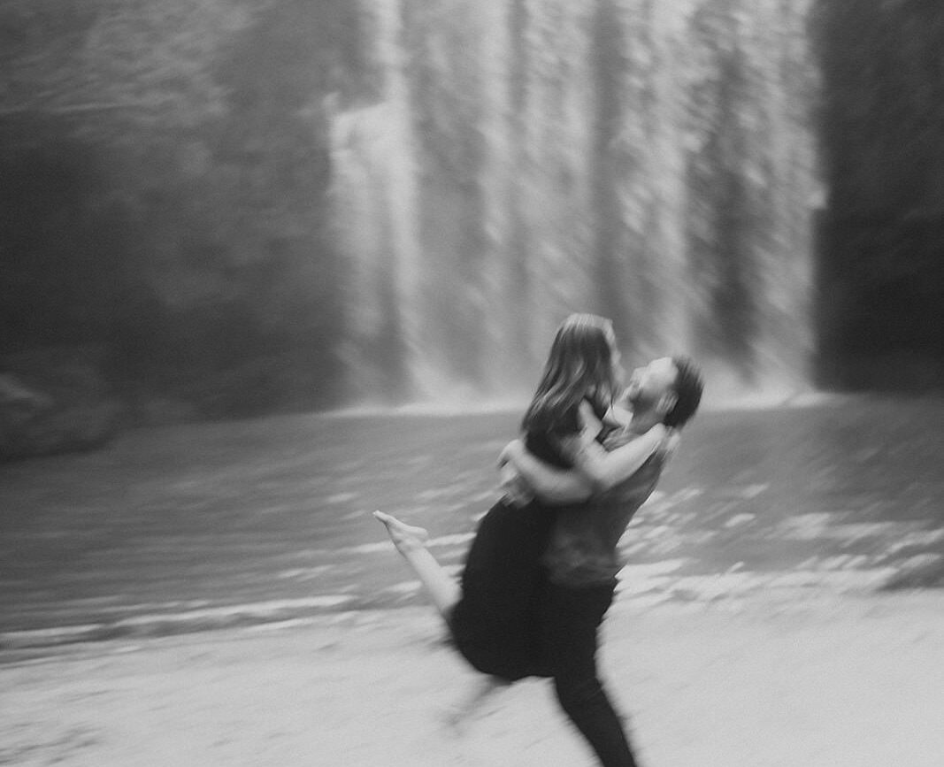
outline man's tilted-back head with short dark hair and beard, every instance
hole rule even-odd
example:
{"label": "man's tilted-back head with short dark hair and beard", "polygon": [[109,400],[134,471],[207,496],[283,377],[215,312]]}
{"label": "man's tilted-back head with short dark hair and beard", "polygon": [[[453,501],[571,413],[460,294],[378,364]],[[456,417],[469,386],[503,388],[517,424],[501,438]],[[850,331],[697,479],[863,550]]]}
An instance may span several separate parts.
{"label": "man's tilted-back head with short dark hair and beard", "polygon": [[633,416],[681,428],[695,415],[704,383],[687,357],[661,357],[632,372],[626,397]]}

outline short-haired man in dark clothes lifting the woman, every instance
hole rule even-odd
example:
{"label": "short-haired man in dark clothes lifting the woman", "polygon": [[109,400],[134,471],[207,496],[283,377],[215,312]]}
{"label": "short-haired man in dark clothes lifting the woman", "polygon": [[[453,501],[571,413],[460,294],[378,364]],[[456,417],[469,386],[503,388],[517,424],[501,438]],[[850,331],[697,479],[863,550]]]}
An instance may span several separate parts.
{"label": "short-haired man in dark clothes lifting the woman", "polygon": [[[656,359],[632,375],[625,393],[632,408],[629,421],[609,427],[602,444],[588,439],[580,449],[602,454],[659,423],[681,428],[698,409],[702,388],[691,360]],[[588,428],[596,437],[597,426]],[[658,452],[635,474],[618,481],[553,469],[519,441],[509,444],[500,459],[514,468],[509,474],[506,466],[504,484],[510,491],[521,494],[523,481],[539,502],[562,505],[542,559],[547,580],[535,605],[537,658],[543,673],[554,679],[562,709],[604,767],[634,767],[636,762],[598,678],[598,626],[613,602],[623,564],[617,543],[655,489],[665,459],[666,453]]]}

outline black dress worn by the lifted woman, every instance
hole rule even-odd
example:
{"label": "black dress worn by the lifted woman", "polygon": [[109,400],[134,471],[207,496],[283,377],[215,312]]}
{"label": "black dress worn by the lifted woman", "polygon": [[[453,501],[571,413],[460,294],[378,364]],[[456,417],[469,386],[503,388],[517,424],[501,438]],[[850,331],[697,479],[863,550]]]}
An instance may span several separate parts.
{"label": "black dress worn by the lifted woman", "polygon": [[[535,457],[568,468],[547,438],[526,437]],[[537,600],[544,583],[541,557],[556,512],[503,499],[480,520],[465,558],[463,595],[449,619],[456,648],[483,674],[509,681],[545,675],[535,661]]]}

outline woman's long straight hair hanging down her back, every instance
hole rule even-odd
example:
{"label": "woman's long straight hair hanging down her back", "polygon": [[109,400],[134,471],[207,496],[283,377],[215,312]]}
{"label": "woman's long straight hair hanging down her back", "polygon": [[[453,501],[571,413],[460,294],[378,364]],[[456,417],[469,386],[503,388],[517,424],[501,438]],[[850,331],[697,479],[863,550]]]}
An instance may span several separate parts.
{"label": "woman's long straight hair hanging down her back", "polygon": [[524,431],[574,433],[580,429],[582,400],[589,400],[598,415],[610,407],[616,388],[612,333],[611,322],[596,314],[571,314],[564,321],[521,423]]}

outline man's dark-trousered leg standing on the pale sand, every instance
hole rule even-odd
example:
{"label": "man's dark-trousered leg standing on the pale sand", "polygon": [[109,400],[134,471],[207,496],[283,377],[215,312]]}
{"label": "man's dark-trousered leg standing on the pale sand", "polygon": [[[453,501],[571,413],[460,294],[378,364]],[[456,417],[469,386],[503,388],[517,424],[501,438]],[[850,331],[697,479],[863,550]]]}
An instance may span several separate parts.
{"label": "man's dark-trousered leg standing on the pale sand", "polygon": [[549,584],[542,596],[541,650],[557,699],[603,767],[636,767],[623,723],[597,675],[597,630],[613,587]]}

